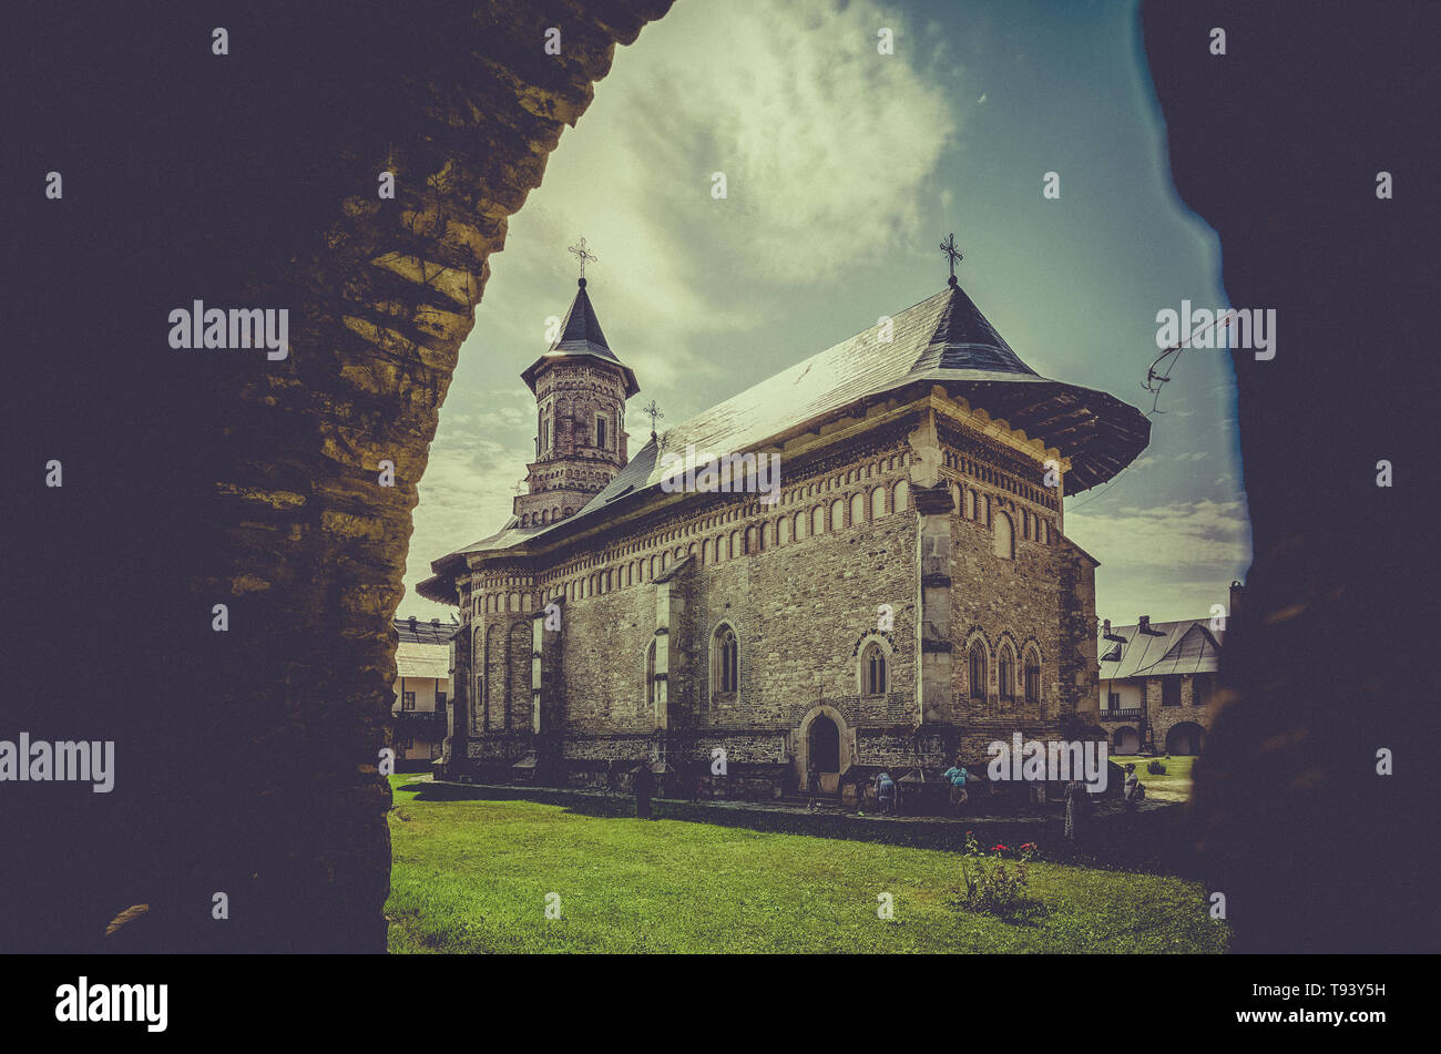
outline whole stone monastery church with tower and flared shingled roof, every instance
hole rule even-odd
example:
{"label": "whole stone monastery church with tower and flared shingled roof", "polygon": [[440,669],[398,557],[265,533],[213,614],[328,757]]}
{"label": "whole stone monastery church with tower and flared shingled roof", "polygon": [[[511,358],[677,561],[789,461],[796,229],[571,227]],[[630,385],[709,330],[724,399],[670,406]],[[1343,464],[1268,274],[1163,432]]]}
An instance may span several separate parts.
{"label": "whole stone monastery church with tower and flared shingled roof", "polygon": [[[460,606],[447,778],[604,786],[648,762],[679,789],[719,747],[732,788],[780,796],[983,766],[1014,731],[1104,737],[1078,717],[1097,562],[1062,498],[1130,464],[1150,422],[1036,374],[954,274],[634,456],[640,384],[584,276],[522,377],[529,492],[419,586]],[[778,454],[777,500],[742,488],[754,459],[728,490],[663,487],[689,445]]]}

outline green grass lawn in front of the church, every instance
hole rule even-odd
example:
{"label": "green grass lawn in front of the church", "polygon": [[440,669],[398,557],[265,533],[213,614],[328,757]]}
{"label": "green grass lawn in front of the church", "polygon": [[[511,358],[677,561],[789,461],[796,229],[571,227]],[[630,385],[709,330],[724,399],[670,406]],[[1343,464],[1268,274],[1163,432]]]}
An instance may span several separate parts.
{"label": "green grass lawn in front of the church", "polygon": [[[1223,952],[1179,878],[1030,865],[1006,923],[947,904],[961,857],[536,802],[418,802],[392,776],[391,952]],[[419,786],[415,786],[419,789]],[[1045,855],[1045,845],[1042,855]],[[545,917],[558,893],[562,917]],[[878,894],[895,917],[876,917]]]}

